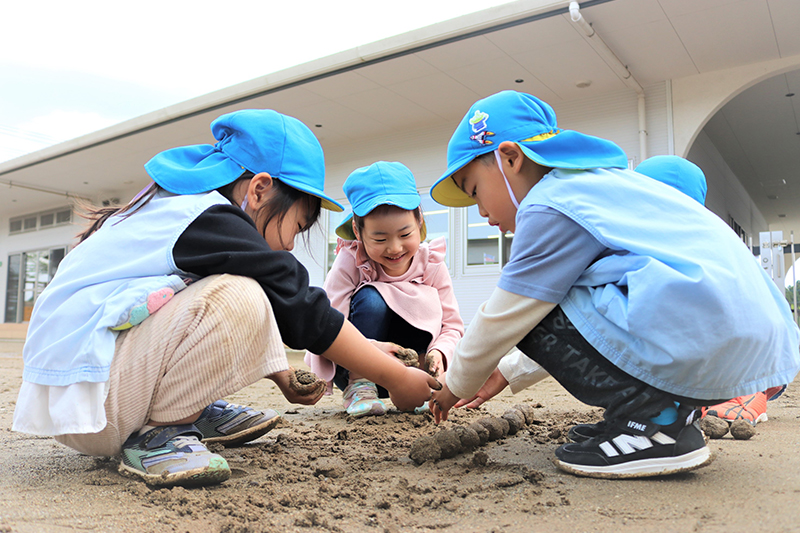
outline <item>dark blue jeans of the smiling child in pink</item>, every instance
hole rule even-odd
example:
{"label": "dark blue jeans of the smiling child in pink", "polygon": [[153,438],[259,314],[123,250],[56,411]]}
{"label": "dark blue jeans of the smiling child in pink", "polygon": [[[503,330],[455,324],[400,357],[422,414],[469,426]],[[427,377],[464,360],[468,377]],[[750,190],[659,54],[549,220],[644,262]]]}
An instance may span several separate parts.
{"label": "dark blue jeans of the smiling child in pink", "polygon": [[[394,342],[417,353],[426,353],[432,340],[430,333],[415,328],[389,309],[381,293],[371,285],[365,285],[353,295],[349,320],[368,339]],[[337,365],[333,376],[336,386],[344,390],[349,379],[350,371]],[[388,398],[389,393],[379,386],[378,396]]]}

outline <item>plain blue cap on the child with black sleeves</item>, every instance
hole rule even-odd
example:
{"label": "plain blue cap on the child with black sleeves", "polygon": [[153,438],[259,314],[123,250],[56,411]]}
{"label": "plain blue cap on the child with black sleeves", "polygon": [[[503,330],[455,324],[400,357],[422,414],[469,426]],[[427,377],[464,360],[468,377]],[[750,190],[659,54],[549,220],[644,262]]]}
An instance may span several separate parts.
{"label": "plain blue cap on the child with black sleeves", "polygon": [[161,152],[144,165],[153,181],[174,194],[213,191],[245,170],[266,172],[316,196],[322,207],[343,211],[324,193],[325,158],[311,130],[296,118],[271,109],[242,109],[211,123],[215,145],[180,146]]}

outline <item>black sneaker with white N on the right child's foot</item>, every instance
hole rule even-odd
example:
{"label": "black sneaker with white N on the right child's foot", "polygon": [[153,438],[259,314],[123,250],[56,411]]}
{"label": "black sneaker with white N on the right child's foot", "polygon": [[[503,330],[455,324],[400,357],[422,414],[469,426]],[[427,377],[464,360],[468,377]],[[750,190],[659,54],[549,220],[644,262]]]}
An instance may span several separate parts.
{"label": "black sneaker with white N on the right child's foot", "polygon": [[695,411],[681,408],[678,420],[668,426],[607,423],[601,435],[561,445],[555,464],[578,476],[622,479],[688,472],[712,460]]}

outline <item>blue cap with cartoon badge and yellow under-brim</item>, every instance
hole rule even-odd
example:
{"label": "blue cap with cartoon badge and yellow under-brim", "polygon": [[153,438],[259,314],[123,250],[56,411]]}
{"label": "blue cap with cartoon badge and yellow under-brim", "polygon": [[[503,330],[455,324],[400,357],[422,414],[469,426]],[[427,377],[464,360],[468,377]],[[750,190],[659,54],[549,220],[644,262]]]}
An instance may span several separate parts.
{"label": "blue cap with cartoon badge and yellow under-brim", "polygon": [[431,188],[442,205],[464,207],[475,200],[450,178],[470,161],[516,143],[532,161],[551,168],[627,168],[628,157],[611,141],[571,130],[561,130],[547,103],[530,94],[503,91],[475,102],[447,145],[447,170]]}

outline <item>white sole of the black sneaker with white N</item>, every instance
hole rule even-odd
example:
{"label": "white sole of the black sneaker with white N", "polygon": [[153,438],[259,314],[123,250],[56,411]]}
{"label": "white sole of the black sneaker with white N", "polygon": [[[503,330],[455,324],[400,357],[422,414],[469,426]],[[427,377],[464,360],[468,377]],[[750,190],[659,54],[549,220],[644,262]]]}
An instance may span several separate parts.
{"label": "white sole of the black sneaker with white N", "polygon": [[678,457],[659,457],[641,459],[609,466],[589,466],[565,463],[554,459],[555,465],[576,476],[604,479],[630,479],[637,477],[666,476],[679,472],[689,472],[710,464],[714,455],[707,446]]}

